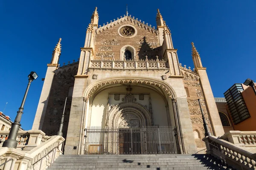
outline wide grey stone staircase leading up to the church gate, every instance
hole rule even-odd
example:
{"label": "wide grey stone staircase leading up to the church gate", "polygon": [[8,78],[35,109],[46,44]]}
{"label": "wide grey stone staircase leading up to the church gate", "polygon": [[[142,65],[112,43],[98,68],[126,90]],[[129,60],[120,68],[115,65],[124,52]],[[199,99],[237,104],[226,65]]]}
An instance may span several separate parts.
{"label": "wide grey stone staircase leading up to the church gate", "polygon": [[235,170],[211,155],[61,155],[51,170]]}

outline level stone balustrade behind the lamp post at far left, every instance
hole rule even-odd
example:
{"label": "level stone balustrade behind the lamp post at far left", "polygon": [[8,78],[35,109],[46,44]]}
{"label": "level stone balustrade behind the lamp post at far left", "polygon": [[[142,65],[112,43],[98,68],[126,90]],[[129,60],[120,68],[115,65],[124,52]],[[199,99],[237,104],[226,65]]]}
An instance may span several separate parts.
{"label": "level stone balustrade behind the lamp post at far left", "polygon": [[[0,131],[0,147],[2,147],[3,142],[8,139],[9,132],[9,130]],[[47,141],[47,139],[49,139],[49,136],[45,136],[42,130],[20,130],[16,138],[18,141],[17,149],[31,150]]]}

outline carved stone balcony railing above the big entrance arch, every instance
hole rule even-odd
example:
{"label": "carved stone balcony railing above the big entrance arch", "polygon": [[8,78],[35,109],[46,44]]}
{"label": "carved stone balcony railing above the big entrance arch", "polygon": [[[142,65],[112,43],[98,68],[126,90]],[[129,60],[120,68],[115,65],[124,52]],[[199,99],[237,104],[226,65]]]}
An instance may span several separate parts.
{"label": "carved stone balcony railing above the big entrance arch", "polygon": [[137,61],[114,61],[114,60],[91,60],[90,68],[93,69],[166,69],[167,62],[163,60],[137,60]]}

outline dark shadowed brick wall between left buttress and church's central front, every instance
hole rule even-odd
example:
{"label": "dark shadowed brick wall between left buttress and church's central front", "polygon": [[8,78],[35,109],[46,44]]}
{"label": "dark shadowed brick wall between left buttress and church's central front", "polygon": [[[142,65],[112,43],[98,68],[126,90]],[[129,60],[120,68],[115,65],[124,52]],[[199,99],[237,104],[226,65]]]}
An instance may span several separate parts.
{"label": "dark shadowed brick wall between left buttress and church's central front", "polygon": [[[68,96],[69,88],[74,86],[77,74],[78,62],[58,68],[52,81],[52,87],[49,95],[47,110],[44,117],[42,130],[46,135],[56,135],[58,132],[61,115],[63,113],[65,98]],[[67,98],[66,108],[64,112],[63,137],[67,136],[67,126],[70,117],[72,96]]]}

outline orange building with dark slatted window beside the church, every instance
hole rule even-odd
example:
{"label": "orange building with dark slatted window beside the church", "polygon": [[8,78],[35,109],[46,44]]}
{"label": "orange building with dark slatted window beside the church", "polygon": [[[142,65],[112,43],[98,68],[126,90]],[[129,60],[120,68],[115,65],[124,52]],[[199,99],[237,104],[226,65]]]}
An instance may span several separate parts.
{"label": "orange building with dark slatted window beside the church", "polygon": [[[243,84],[234,84],[224,93],[224,96],[227,101],[225,106],[233,125],[233,130],[255,131],[256,95],[253,88]],[[221,107],[219,106],[219,108]],[[224,130],[226,133],[228,128],[224,128]]]}

